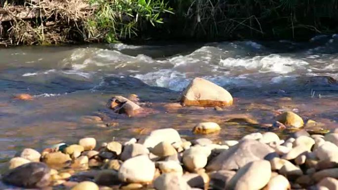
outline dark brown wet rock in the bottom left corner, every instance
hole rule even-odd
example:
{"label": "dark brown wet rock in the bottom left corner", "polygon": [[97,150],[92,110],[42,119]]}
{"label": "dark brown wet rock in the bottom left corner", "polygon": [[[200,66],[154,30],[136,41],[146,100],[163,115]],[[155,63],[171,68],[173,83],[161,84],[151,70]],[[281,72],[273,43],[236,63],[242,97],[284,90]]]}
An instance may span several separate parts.
{"label": "dark brown wet rock in the bottom left corner", "polygon": [[50,183],[50,169],[42,162],[30,162],[3,174],[2,181],[23,188],[43,188]]}

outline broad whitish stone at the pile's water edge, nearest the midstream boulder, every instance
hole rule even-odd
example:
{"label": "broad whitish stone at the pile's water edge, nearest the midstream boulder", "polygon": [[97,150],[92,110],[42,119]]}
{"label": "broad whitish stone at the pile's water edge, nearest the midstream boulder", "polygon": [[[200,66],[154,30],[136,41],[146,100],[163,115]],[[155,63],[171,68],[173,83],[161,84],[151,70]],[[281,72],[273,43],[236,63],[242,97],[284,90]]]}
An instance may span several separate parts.
{"label": "broad whitish stone at the pile's water edge, nearest the midstream boulder", "polygon": [[170,144],[181,142],[181,137],[175,129],[157,129],[152,131],[148,136],[140,138],[138,143],[143,144],[146,148],[154,148],[156,145],[164,141]]}

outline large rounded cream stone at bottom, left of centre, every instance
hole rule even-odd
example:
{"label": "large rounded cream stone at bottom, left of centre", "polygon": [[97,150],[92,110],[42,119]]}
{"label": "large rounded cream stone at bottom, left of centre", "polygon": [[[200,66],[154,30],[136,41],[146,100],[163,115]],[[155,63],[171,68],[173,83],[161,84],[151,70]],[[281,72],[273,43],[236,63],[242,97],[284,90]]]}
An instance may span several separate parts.
{"label": "large rounded cream stone at bottom, left of centre", "polygon": [[148,184],[153,181],[155,164],[147,155],[127,159],[120,167],[119,179],[127,183]]}

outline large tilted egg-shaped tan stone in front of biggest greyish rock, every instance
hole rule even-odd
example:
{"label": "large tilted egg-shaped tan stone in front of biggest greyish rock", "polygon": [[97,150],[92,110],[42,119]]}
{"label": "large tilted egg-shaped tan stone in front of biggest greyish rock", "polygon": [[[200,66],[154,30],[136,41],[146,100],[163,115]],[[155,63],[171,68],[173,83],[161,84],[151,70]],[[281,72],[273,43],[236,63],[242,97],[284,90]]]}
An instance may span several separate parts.
{"label": "large tilted egg-shaped tan stone in front of biggest greyish rock", "polygon": [[267,160],[253,161],[242,167],[232,177],[226,190],[260,190],[270,181],[271,166]]}

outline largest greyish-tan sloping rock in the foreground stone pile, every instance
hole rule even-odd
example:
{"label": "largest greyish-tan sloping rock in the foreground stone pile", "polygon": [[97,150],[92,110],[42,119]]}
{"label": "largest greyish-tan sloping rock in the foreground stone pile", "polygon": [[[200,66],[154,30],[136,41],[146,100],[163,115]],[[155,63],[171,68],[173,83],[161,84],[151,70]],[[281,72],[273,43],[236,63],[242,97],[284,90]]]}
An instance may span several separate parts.
{"label": "largest greyish-tan sloping rock in the foreground stone pile", "polygon": [[238,170],[249,162],[275,156],[277,153],[268,145],[255,140],[243,140],[212,159],[206,169],[209,171]]}

